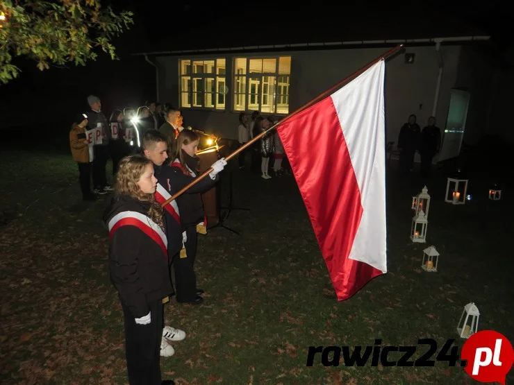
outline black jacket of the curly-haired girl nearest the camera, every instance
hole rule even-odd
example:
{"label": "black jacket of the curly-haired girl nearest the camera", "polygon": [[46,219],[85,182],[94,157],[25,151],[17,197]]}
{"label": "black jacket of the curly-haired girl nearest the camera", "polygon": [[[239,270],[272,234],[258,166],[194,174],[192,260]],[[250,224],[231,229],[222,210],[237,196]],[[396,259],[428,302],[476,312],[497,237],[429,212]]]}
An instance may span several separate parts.
{"label": "black jacket of the curly-haired girl nearest the camera", "polygon": [[[146,216],[148,209],[149,203],[130,196],[113,196],[103,212],[103,222],[108,227],[116,214],[131,211]],[[109,270],[111,281],[134,318],[146,316],[151,302],[173,292],[167,255],[135,225],[119,226],[109,234]]]}

